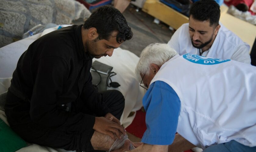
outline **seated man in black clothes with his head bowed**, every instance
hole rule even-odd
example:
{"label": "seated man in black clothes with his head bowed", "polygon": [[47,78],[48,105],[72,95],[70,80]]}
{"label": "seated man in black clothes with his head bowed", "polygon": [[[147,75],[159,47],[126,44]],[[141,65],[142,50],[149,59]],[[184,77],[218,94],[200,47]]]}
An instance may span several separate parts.
{"label": "seated man in black clothes with his head bowed", "polygon": [[123,95],[92,85],[92,58],[112,56],[133,36],[115,8],[103,6],[84,25],[46,34],[21,55],[8,90],[5,113],[24,140],[65,150],[108,150],[126,134],[119,119]]}

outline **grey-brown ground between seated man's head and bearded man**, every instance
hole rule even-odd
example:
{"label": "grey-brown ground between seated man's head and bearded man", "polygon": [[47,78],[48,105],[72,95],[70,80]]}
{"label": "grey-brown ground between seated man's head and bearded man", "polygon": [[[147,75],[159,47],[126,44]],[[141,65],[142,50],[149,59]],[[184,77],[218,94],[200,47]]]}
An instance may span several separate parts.
{"label": "grey-brown ground between seated man's head and bearded man", "polygon": [[148,15],[137,7],[130,5],[123,15],[126,18],[129,26],[133,31],[133,38],[124,42],[121,45],[122,49],[130,50],[137,56],[140,56],[141,51],[151,43],[167,43],[173,31],[164,23],[154,23],[154,17]]}

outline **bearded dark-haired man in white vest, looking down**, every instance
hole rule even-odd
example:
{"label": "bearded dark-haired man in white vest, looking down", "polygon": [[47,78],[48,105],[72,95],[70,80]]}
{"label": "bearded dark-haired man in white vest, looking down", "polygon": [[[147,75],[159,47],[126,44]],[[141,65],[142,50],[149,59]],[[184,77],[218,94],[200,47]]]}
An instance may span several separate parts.
{"label": "bearded dark-haired man in white vest, looking down", "polygon": [[177,29],[169,46],[180,55],[190,53],[251,64],[250,46],[219,24],[219,18],[219,5],[214,0],[195,2],[190,9],[189,23]]}

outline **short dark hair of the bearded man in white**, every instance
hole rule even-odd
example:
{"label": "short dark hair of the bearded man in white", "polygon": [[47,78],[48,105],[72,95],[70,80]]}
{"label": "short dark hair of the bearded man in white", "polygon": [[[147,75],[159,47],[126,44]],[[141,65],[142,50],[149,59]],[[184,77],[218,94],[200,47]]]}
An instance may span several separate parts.
{"label": "short dark hair of the bearded man in white", "polygon": [[210,26],[219,25],[219,4],[214,0],[199,0],[190,9],[189,16],[198,21],[210,21]]}

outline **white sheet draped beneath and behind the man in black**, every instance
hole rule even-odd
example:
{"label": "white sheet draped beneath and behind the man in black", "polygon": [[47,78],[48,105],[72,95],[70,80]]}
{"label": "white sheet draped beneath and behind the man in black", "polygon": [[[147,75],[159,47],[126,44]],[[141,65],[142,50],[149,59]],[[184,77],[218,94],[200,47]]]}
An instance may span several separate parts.
{"label": "white sheet draped beneath and behind the man in black", "polygon": [[[51,31],[51,30],[48,30]],[[2,92],[7,91],[10,85],[9,81],[12,77],[12,73],[16,68],[16,64],[21,56],[21,54],[27,50],[28,46],[34,42],[37,38],[41,36],[41,33],[36,34],[34,36],[28,37],[26,39],[17,41],[15,43],[11,43],[5,47],[0,48],[0,82],[1,79],[8,81],[3,82],[0,85],[0,90]],[[117,73],[117,75],[111,77],[112,81],[118,82],[121,86],[116,88],[122,92],[125,98],[125,108],[123,111],[123,115],[121,116],[120,122],[124,127],[129,126],[134,117],[128,117],[130,112],[136,112],[142,107],[142,97],[145,94],[146,90],[139,86],[139,83],[135,76],[135,67],[139,60],[135,54],[131,53],[128,50],[123,50],[121,48],[117,48],[114,50],[112,57],[101,57],[98,60],[102,63],[108,64],[113,67],[113,71]],[[9,79],[6,79],[9,78]],[[108,88],[114,89],[114,88]],[[0,110],[0,118],[7,122],[5,114],[2,110]],[[23,151],[40,151],[40,152],[55,152],[55,151],[65,151],[63,149],[52,149],[49,147],[42,147],[36,144],[29,145],[28,147],[22,148],[18,150],[19,152]]]}

